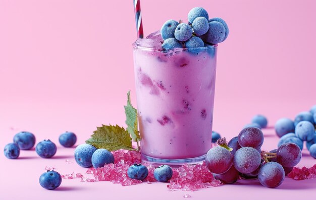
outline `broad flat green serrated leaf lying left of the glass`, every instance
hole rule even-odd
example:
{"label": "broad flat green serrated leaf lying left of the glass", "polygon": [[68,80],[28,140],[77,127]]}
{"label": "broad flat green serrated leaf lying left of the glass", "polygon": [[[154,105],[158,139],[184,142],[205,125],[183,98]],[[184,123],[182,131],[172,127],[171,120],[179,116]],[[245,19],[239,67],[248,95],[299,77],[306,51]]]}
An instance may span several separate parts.
{"label": "broad flat green serrated leaf lying left of the glass", "polygon": [[103,148],[108,151],[118,149],[135,150],[132,147],[132,139],[129,133],[123,127],[102,125],[102,127],[97,127],[97,130],[93,133],[91,138],[86,140],[86,143],[98,149]]}

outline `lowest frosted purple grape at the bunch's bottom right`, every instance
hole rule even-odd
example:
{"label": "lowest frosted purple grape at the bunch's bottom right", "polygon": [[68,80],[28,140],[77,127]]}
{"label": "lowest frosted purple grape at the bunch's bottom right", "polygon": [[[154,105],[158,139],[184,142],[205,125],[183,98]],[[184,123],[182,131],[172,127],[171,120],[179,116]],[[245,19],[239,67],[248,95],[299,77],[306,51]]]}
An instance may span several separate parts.
{"label": "lowest frosted purple grape at the bunch's bottom right", "polygon": [[277,162],[264,164],[258,174],[259,181],[265,187],[275,188],[284,180],[285,172],[283,167]]}

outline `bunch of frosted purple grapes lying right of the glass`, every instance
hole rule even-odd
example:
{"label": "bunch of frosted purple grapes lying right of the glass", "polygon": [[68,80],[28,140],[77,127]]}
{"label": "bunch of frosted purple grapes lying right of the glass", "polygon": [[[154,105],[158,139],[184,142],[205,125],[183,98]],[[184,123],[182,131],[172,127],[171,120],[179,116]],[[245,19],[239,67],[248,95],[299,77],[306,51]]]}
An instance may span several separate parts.
{"label": "bunch of frosted purple grapes lying right of the glass", "polygon": [[228,145],[225,138],[210,149],[205,163],[214,177],[230,184],[237,179],[259,179],[266,187],[277,187],[302,157],[294,143],[285,143],[270,152],[261,151],[264,134],[256,127],[244,128]]}

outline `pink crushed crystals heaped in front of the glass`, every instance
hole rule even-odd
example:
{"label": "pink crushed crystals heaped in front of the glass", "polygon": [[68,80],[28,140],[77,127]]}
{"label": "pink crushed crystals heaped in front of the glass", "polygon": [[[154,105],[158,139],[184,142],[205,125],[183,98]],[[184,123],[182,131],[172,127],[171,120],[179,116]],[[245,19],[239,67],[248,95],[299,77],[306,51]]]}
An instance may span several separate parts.
{"label": "pink crushed crystals heaped in front of the glass", "polygon": [[[154,167],[148,163],[143,163],[148,168],[148,176],[143,180],[131,179],[127,175],[127,169],[134,163],[140,163],[140,153],[136,151],[118,150],[114,151],[115,163],[106,164],[100,168],[89,168],[86,173],[92,174],[97,181],[111,181],[120,183],[123,186],[135,185],[144,182],[155,182],[153,176]],[[212,173],[207,169],[205,162],[197,165],[184,164],[179,168],[173,168],[173,176],[168,190],[197,190],[209,186],[219,186],[220,180],[216,180]]]}

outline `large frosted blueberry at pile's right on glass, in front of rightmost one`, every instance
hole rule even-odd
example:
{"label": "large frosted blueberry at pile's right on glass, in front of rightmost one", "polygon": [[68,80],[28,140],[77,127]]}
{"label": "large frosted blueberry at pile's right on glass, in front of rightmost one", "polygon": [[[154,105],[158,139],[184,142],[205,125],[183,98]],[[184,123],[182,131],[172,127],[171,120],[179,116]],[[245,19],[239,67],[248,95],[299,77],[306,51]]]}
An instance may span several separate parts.
{"label": "large frosted blueberry at pile's right on glass, in front of rightmost one", "polygon": [[206,42],[210,44],[218,44],[224,41],[225,38],[225,27],[220,22],[209,22],[209,29],[206,35]]}

